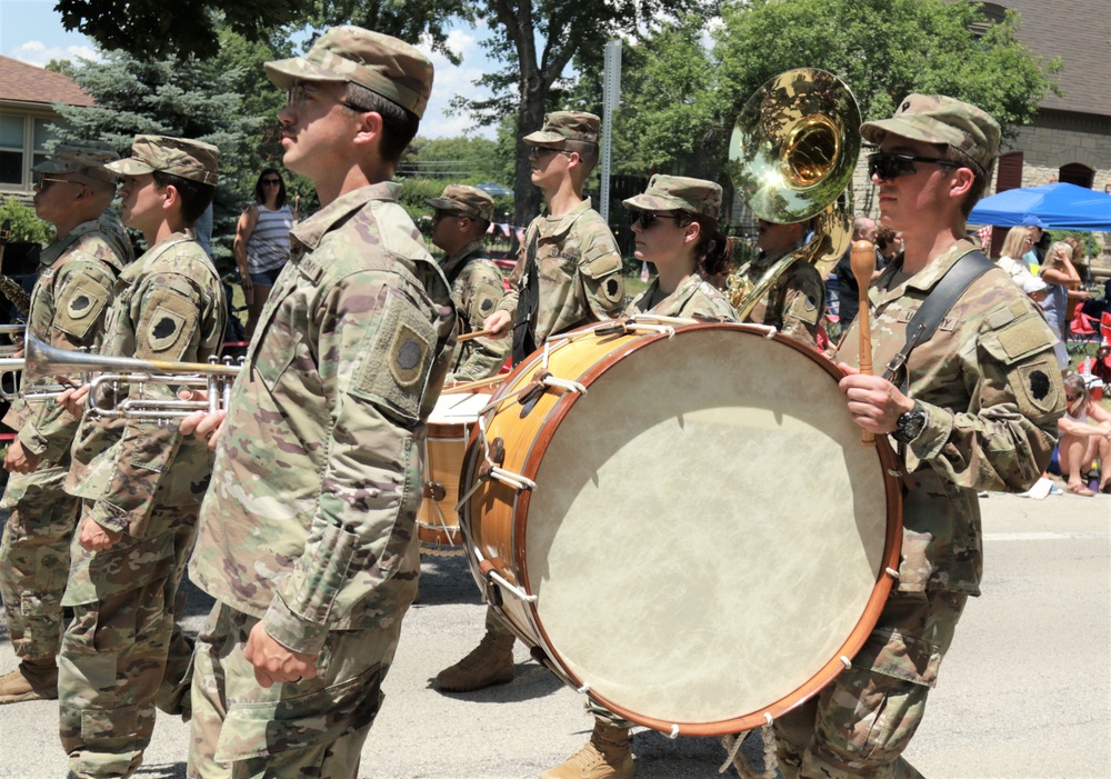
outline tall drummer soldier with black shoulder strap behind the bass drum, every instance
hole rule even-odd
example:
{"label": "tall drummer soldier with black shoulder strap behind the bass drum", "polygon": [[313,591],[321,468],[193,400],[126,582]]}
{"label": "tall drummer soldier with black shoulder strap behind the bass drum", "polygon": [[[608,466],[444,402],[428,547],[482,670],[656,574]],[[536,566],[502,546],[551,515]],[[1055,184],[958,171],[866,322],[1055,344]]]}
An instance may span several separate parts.
{"label": "tall drummer soldier with black shoulder strap behind the bass drum", "polygon": [[[564,330],[612,319],[624,308],[621,253],[613,233],[582,184],[598,162],[593,113],[557,111],[524,137],[532,147],[532,183],[544,191],[548,213],[532,220],[510,277],[510,291],[482,327],[507,333],[512,323],[513,364]],[[513,633],[487,610],[486,636],[467,657],[440,671],[441,690],[466,692],[513,678]]]}

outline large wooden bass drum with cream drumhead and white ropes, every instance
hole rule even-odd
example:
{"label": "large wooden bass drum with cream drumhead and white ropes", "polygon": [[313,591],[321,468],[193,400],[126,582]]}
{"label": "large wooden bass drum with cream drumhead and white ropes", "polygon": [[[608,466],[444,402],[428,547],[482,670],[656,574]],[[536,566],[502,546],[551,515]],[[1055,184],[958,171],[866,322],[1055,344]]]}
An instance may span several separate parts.
{"label": "large wooden bass drum with cream drumhead and white ropes", "polygon": [[739,732],[807,700],[898,569],[890,448],[861,446],[831,362],[770,332],[573,332],[471,437],[479,586],[538,659],[650,728]]}

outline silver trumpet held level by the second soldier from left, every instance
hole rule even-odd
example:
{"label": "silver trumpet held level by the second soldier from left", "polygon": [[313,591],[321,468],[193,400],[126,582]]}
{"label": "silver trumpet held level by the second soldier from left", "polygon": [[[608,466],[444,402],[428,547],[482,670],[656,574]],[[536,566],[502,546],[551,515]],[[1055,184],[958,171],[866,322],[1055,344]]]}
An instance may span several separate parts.
{"label": "silver trumpet held level by the second soldier from left", "polygon": [[[241,364],[233,364],[230,358],[224,358],[223,362],[214,359],[211,362],[170,362],[69,351],[43,343],[30,333],[23,360],[28,378],[64,373],[72,369],[89,376],[89,397],[84,410],[88,415],[106,419],[158,422],[188,417],[196,411],[213,413],[227,408],[231,386],[242,368]],[[2,367],[3,362],[0,360],[0,368]],[[131,392],[121,399],[120,392],[124,386]],[[148,386],[203,389],[208,392],[208,398],[144,398],[143,389]],[[53,387],[42,386],[39,389]]]}

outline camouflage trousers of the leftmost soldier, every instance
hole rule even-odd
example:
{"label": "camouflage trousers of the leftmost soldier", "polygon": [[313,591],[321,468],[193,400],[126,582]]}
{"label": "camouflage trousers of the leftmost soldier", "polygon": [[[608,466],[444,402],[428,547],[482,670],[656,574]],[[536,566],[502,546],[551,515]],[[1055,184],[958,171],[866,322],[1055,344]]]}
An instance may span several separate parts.
{"label": "camouflage trousers of the leftmost soldier", "polygon": [[17,657],[58,655],[70,539],[81,501],[62,491],[66,469],[12,473],[0,501],[0,598]]}

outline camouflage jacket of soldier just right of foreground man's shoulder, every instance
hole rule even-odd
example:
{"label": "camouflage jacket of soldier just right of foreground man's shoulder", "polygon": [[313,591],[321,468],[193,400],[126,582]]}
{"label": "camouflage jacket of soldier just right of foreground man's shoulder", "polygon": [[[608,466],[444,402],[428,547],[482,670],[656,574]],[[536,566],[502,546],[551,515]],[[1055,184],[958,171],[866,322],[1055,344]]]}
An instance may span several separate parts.
{"label": "camouflage jacket of soldier just right of foreground man's shoulder", "polygon": [[[451,302],[459,312],[460,331],[481,330],[482,322],[506,296],[501,271],[487,256],[482,241],[468,243],[440,267],[451,283]],[[448,380],[477,381],[497,376],[512,344],[509,338],[476,338],[457,343]]]}

